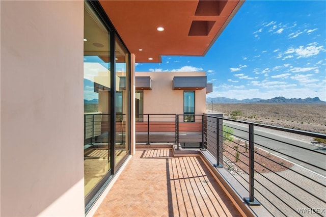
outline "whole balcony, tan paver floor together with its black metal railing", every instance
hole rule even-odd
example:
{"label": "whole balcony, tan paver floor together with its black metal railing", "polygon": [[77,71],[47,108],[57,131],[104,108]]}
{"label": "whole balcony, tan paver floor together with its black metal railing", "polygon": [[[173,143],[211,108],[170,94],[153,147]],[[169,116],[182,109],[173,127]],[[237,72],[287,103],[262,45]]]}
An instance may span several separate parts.
{"label": "whole balcony, tan paver floor together with its black metal railing", "polygon": [[142,116],[136,154],[94,216],[326,215],[326,148],[313,140],[325,134],[213,114]]}

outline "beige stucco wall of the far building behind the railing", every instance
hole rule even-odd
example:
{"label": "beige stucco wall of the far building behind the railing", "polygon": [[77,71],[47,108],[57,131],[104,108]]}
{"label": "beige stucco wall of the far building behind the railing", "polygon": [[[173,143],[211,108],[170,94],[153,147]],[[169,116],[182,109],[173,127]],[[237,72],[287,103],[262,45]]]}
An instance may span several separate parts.
{"label": "beige stucco wall of the far building behind the railing", "polygon": [[[136,72],[150,76],[152,90],[144,91],[144,114],[183,114],[183,90],[173,90],[174,76],[205,76],[205,72]],[[195,91],[195,114],[206,111],[206,88]]]}

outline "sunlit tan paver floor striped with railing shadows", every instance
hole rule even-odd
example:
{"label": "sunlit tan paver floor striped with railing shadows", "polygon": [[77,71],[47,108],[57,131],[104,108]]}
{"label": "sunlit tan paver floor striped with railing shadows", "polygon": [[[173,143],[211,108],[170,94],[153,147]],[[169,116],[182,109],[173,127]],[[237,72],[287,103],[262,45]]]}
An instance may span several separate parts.
{"label": "sunlit tan paver floor striped with railing shadows", "polygon": [[241,216],[200,157],[137,150],[94,216]]}

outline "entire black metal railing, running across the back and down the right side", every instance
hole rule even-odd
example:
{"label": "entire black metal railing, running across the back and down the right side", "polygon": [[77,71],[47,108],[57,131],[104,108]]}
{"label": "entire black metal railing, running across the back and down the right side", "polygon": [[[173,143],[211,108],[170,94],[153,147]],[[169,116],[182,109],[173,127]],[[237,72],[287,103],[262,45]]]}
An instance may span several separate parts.
{"label": "entire black metal railing, running across the back and down the right side", "polygon": [[274,216],[326,215],[326,147],[313,143],[325,134],[213,115],[144,114],[141,120],[137,143],[205,149],[247,191],[249,205]]}

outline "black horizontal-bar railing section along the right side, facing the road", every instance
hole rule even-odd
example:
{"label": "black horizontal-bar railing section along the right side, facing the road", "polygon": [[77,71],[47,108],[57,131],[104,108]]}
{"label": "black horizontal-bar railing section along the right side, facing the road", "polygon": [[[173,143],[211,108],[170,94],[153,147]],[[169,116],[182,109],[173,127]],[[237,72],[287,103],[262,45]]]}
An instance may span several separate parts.
{"label": "black horizontal-bar railing section along the right side, facing the road", "polygon": [[274,216],[325,216],[326,148],[295,139],[325,134],[204,116],[204,148]]}

